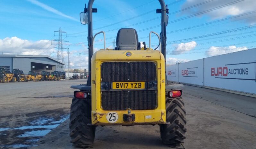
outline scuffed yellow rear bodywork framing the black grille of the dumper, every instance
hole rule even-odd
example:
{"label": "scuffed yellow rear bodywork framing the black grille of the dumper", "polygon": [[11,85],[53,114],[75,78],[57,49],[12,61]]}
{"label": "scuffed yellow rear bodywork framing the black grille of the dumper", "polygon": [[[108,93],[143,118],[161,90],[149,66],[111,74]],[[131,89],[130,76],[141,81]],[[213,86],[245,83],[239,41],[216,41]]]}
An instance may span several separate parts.
{"label": "scuffed yellow rear bodywork framing the black grille of the dumper", "polygon": [[[130,52],[130,56],[126,53]],[[127,110],[103,110],[101,107],[101,64],[103,62],[132,62],[151,61],[156,63],[157,72],[157,107],[153,110],[130,110],[135,114],[134,122],[124,122],[123,115]],[[166,93],[165,93],[165,60],[157,50],[99,50],[93,54],[91,60],[91,109],[92,125],[141,125],[166,123]],[[115,112],[118,119],[114,123],[107,121],[107,113]]]}

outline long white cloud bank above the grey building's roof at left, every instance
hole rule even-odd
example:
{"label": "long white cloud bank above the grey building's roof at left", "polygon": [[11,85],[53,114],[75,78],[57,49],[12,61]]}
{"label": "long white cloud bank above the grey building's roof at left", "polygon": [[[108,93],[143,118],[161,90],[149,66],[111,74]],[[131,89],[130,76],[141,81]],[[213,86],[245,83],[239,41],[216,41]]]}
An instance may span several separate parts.
{"label": "long white cloud bank above the grey building's roof at left", "polygon": [[0,51],[4,54],[49,55],[53,47],[49,40],[32,42],[18,37],[0,39]]}

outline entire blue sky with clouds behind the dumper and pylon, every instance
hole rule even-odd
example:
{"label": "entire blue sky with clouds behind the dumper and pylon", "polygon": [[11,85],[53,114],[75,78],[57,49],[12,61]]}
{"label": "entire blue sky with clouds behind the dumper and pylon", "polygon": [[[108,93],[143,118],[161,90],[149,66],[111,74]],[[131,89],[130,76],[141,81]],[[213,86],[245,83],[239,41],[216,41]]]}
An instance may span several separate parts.
{"label": "entire blue sky with clouds behind the dumper and pylon", "polygon": [[[88,67],[87,25],[79,13],[88,0],[1,0],[0,54],[48,55],[56,59],[60,28],[63,47],[69,48],[71,69]],[[255,48],[255,0],[165,0],[169,8],[166,27],[167,65]],[[106,47],[112,48],[120,28],[135,28],[139,42],[149,43],[149,32],[158,34],[160,8],[157,0],[95,0],[93,34],[106,32]],[[103,35],[94,51],[103,49]],[[158,45],[152,36],[151,47]],[[81,53],[81,57],[79,54]],[[67,49],[64,49],[67,65]]]}

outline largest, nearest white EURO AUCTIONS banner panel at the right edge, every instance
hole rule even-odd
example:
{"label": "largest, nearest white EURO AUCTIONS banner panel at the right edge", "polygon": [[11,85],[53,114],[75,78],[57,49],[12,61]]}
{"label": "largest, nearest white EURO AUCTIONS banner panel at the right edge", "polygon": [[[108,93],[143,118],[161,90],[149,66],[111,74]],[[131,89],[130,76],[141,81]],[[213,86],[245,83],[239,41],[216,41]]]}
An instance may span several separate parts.
{"label": "largest, nearest white EURO AUCTIONS banner panel at the right edge", "polygon": [[204,59],[205,86],[256,94],[256,49]]}

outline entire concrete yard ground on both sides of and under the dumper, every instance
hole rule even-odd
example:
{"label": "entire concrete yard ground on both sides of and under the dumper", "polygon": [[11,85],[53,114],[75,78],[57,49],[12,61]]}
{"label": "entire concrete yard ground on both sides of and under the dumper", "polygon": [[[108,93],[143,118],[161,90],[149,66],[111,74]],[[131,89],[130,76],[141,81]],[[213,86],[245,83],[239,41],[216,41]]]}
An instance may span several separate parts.
{"label": "entire concrete yard ground on both sides of and under the dumper", "polygon": [[[0,149],[78,149],[70,142],[74,89],[86,80],[0,83]],[[256,99],[185,85],[187,133],[163,145],[159,126],[98,126],[95,149],[256,149]]]}

